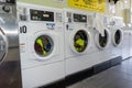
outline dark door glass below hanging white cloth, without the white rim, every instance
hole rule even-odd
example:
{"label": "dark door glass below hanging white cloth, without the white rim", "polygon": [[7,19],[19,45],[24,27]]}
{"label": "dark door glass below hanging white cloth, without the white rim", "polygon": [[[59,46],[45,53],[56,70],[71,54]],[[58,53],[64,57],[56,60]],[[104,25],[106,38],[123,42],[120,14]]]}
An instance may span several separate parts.
{"label": "dark door glass below hanging white cloth, without the white rim", "polygon": [[107,31],[105,30],[105,36],[102,36],[101,34],[99,34],[99,45],[101,47],[106,47],[107,46],[107,43],[108,43],[108,33]]}

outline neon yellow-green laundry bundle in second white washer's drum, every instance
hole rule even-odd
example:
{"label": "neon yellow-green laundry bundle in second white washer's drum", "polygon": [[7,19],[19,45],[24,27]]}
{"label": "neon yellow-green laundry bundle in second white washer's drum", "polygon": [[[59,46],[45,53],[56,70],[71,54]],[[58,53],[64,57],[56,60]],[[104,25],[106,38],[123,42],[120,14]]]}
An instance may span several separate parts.
{"label": "neon yellow-green laundry bundle in second white washer's drum", "polygon": [[82,38],[78,38],[76,42],[75,42],[75,48],[78,51],[78,52],[82,52],[84,51],[84,47],[85,47],[85,41]]}

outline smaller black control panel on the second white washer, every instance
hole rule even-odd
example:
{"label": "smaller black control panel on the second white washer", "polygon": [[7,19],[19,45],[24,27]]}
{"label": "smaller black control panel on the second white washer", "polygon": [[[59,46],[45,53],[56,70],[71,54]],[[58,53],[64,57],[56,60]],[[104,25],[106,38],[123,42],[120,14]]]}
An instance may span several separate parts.
{"label": "smaller black control panel on the second white washer", "polygon": [[87,15],[84,14],[75,14],[74,13],[74,22],[87,22]]}

